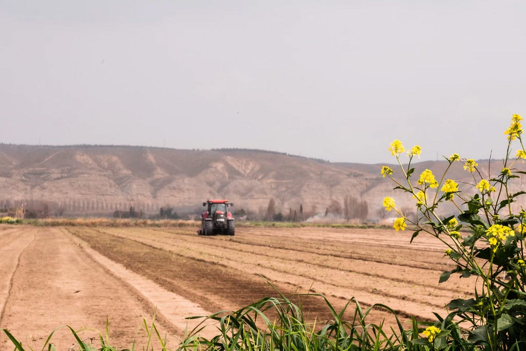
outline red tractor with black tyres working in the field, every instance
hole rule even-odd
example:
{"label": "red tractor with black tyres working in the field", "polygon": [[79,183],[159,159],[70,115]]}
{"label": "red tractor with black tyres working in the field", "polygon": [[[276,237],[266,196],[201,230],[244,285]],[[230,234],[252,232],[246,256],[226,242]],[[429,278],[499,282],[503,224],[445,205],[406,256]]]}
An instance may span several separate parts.
{"label": "red tractor with black tyres working in the field", "polygon": [[229,204],[228,200],[208,199],[203,206],[207,206],[207,210],[201,215],[201,229],[197,230],[197,234],[234,235],[236,229],[234,217],[228,210],[234,204]]}

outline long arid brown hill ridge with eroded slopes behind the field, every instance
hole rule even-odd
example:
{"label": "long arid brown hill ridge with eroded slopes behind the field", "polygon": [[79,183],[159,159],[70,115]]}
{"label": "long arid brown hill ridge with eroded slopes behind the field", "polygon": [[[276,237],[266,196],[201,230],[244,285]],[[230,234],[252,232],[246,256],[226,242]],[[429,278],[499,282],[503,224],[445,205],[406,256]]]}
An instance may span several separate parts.
{"label": "long arid brown hill ridge with eroded slopes behind the field", "polygon": [[[479,164],[487,175],[488,161]],[[455,163],[448,178],[473,184],[462,165]],[[265,215],[274,198],[276,213],[287,215],[301,207],[305,215],[323,216],[333,200],[343,207],[349,196],[365,201],[368,219],[376,221],[383,197],[393,196],[400,208],[414,210],[411,197],[392,192],[381,166],[246,149],[0,145],[0,207],[47,204],[49,215],[64,216],[111,215],[131,206],[144,214],[159,213],[160,207],[199,213],[205,199],[219,197],[258,216]],[[425,168],[439,177],[447,162],[414,166],[416,182]],[[498,175],[501,167],[502,161],[493,161],[491,174]],[[522,179],[514,184],[520,190]]]}

